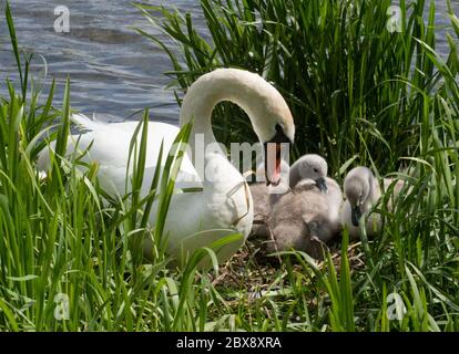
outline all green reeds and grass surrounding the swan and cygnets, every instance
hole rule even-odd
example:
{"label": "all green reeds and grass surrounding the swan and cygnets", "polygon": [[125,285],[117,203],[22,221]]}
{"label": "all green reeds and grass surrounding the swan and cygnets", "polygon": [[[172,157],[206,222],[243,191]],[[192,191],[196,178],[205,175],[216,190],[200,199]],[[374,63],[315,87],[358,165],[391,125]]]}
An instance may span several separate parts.
{"label": "all green reeds and grass surrounding the swan and cygnets", "polygon": [[[294,157],[323,155],[340,183],[357,164],[406,181],[391,211],[391,190],[373,210],[380,235],[349,243],[345,231],[324,261],[293,251],[262,257],[249,240],[223,267],[200,271],[201,260],[215,259],[203,249],[171,269],[162,226],[180,156],[169,157],[141,199],[145,112],[132,144],[133,192],[108,204],[98,166],[82,174],[78,158],[63,156],[71,77],[61,107],[53,106],[54,83],[39,104],[44,93],[33,87],[7,2],[20,88],[1,83],[9,95],[0,97],[0,330],[459,331],[459,19],[449,11],[443,60],[435,51],[434,2],[400,1],[400,32],[387,29],[388,0],[200,3],[211,38],[188,14],[136,4],[169,38],[137,29],[170,55],[177,101],[213,69],[259,73],[290,106]],[[218,140],[255,142],[237,107],[221,104],[215,116]],[[43,179],[37,157],[52,139]],[[151,228],[144,216],[153,200],[162,207]],[[150,263],[136,251],[144,236],[154,241]]]}

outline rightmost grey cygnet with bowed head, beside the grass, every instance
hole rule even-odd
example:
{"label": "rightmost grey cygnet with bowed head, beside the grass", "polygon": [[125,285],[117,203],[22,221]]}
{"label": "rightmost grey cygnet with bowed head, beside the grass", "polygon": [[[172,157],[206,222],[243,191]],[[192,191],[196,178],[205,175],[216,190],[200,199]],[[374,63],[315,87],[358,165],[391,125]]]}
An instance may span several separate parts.
{"label": "rightmost grey cygnet with bowed head, beside the grass", "polygon": [[[384,178],[385,190],[394,183],[394,179]],[[394,187],[394,195],[397,196],[404,181],[398,180]],[[349,237],[353,239],[360,238],[359,220],[361,216],[368,212],[381,197],[379,183],[371,170],[367,167],[355,167],[346,176],[344,181],[344,192],[346,201],[340,211],[340,220],[343,227],[347,226]],[[391,205],[389,205],[389,209]],[[365,226],[368,237],[374,237],[379,232],[381,227],[380,216],[371,214]]]}

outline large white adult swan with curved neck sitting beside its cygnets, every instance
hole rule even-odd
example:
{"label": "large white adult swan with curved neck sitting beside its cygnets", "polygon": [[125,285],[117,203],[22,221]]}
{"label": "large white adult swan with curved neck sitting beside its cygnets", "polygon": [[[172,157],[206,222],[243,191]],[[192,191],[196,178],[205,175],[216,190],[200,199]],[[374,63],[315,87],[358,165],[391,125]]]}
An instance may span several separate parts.
{"label": "large white adult swan with curved neck sitting beside its cygnets", "polygon": [[[231,101],[247,113],[256,135],[265,144],[265,157],[268,155],[267,144],[275,143],[275,168],[268,168],[268,164],[265,164],[267,184],[279,183],[280,144],[294,140],[295,125],[286,102],[278,91],[259,75],[236,69],[218,69],[201,76],[190,86],[183,100],[180,122],[184,125],[194,119],[188,142],[191,156],[185,156],[180,171],[182,176],[198,176],[203,190],[175,194],[171,200],[164,235],[169,238],[167,253],[175,256],[181,263],[186,262],[193,250],[228,235],[222,229],[241,232],[241,242],[227,244],[220,250],[218,260],[223,262],[239,248],[252,228],[253,204],[245,187],[245,179],[216,144],[212,131],[212,112],[222,101]],[[122,195],[125,191],[130,142],[137,124],[106,124],[83,116],[74,116],[73,121],[89,131],[82,134],[79,140],[81,149],[85,149],[92,143],[85,159],[98,162],[103,186],[113,186],[115,191]],[[142,196],[149,191],[161,142],[164,140],[164,152],[169,152],[177,133],[176,126],[149,123]],[[203,146],[198,148],[200,137],[203,137]],[[73,136],[71,142],[76,138]],[[72,153],[71,148],[72,146],[69,153]],[[193,165],[193,156],[203,157],[205,170]],[[42,165],[43,162],[47,165],[49,157],[41,157],[40,160]],[[177,187],[181,188],[180,181]],[[156,210],[155,204],[149,219],[151,225],[156,221]],[[147,243],[146,241],[144,244],[145,250],[149,249]]]}

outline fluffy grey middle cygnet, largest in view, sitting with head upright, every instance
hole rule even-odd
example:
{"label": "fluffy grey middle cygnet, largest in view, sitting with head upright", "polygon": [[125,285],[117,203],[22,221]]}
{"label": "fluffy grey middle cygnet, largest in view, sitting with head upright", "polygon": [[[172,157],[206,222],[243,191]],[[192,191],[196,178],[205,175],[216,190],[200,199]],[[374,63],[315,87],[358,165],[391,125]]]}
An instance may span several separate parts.
{"label": "fluffy grey middle cygnet, largest in view, sitting with head upright", "polygon": [[[310,166],[317,166],[317,170],[315,167],[310,169]],[[298,168],[305,169],[298,171]],[[269,218],[278,251],[294,248],[319,258],[320,243],[332,240],[339,232],[343,194],[334,179],[324,177],[326,171],[325,159],[317,155],[305,155],[292,166],[290,184],[294,188],[274,205]],[[295,181],[295,176],[307,174],[320,183],[312,178]]]}

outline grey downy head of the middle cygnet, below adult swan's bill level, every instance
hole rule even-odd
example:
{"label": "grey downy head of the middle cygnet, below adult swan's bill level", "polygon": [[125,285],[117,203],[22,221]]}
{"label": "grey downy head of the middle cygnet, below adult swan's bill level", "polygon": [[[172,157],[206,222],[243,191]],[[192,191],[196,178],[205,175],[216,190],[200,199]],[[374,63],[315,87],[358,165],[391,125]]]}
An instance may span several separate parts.
{"label": "grey downy head of the middle cygnet, below adult swan's bill level", "polygon": [[308,154],[302,156],[290,168],[290,188],[300,180],[313,179],[320,191],[327,191],[326,177],[328,174],[327,162],[319,155]]}

